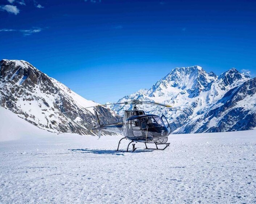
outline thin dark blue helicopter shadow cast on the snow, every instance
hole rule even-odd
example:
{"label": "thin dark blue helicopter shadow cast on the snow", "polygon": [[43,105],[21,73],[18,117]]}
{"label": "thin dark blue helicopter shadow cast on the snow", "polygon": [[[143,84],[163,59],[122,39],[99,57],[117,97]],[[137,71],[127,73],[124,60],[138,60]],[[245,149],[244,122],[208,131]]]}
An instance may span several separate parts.
{"label": "thin dark blue helicopter shadow cast on the snow", "polygon": [[[93,154],[99,154],[99,155],[121,155],[124,156],[124,153],[126,151],[117,152],[116,150],[106,150],[106,149],[68,149],[71,152],[75,153],[93,153]],[[135,152],[132,153],[140,153],[140,152],[152,152],[151,149],[138,149]],[[131,153],[131,152],[128,152]]]}

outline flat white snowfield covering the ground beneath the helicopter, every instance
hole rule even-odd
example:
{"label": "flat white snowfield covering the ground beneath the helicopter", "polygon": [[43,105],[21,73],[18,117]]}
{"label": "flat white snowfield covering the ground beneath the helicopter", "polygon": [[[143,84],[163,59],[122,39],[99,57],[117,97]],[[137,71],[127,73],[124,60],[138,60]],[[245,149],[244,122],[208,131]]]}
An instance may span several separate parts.
{"label": "flat white snowfield covering the ground beneath the helicopter", "polygon": [[256,203],[256,130],[170,135],[165,151],[126,153],[121,136],[28,134],[8,115],[0,124],[13,117],[20,131],[0,125],[12,136],[1,135],[0,203]]}

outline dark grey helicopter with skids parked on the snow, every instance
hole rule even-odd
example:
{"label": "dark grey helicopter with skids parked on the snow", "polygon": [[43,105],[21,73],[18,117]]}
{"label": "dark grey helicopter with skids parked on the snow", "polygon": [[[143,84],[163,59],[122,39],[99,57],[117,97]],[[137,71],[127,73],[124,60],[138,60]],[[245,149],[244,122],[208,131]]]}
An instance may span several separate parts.
{"label": "dark grey helicopter with skids parked on the snow", "polygon": [[[132,109],[124,111],[123,122],[116,122],[116,123],[110,123],[110,124],[100,123],[96,107],[100,107],[100,106],[106,107],[106,105],[117,105],[117,104],[132,105]],[[94,128],[92,129],[92,131],[98,130],[99,138],[101,136],[102,130],[106,130],[112,133],[119,133],[124,136],[119,140],[116,151],[123,151],[119,149],[121,140],[123,139],[128,139],[131,141],[129,142],[125,152],[129,151],[129,146],[132,143],[133,143],[132,152],[134,152],[137,149],[135,147],[135,143],[137,142],[144,143],[146,149],[159,149],[159,150],[166,149],[170,145],[170,143],[167,143],[167,141],[168,141],[168,136],[171,134],[171,128],[168,120],[164,115],[159,117],[154,114],[146,114],[144,110],[139,110],[139,105],[141,104],[152,104],[152,105],[158,105],[158,106],[162,106],[162,107],[170,108],[174,110],[180,110],[172,107],[171,105],[161,104],[161,103],[152,102],[152,101],[141,101],[141,100],[131,100],[131,101],[125,101],[122,103],[97,105],[92,107],[80,108],[76,110],[94,108],[95,119],[97,122],[94,125]],[[72,111],[75,111],[75,110],[70,110],[63,113],[72,112]],[[147,144],[154,144],[156,148],[148,148]],[[164,148],[160,148],[161,145],[164,145]]]}

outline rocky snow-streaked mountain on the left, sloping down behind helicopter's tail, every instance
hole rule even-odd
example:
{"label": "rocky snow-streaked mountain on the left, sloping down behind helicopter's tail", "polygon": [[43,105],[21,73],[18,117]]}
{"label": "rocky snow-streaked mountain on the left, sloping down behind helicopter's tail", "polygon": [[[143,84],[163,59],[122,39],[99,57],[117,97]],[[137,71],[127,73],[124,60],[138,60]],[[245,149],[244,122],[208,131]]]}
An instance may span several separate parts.
{"label": "rocky snow-streaked mountain on the left, sloping down behind helicopter's tail", "polygon": [[[0,61],[0,106],[24,120],[55,133],[91,135],[95,124],[93,109],[61,112],[99,105],[71,91],[23,60]],[[112,110],[97,107],[105,122],[120,121]]]}

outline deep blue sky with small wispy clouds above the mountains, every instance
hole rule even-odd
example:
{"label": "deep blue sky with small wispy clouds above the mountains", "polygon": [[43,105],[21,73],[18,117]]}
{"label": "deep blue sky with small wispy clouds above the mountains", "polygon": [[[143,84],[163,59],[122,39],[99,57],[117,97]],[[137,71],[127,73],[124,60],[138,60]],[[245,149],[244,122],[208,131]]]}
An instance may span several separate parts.
{"label": "deep blue sky with small wispy clouds above the mountains", "polygon": [[99,103],[175,67],[255,77],[255,11],[254,0],[0,0],[0,58],[26,60]]}

